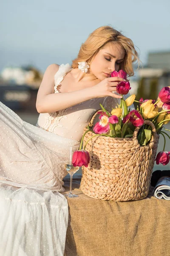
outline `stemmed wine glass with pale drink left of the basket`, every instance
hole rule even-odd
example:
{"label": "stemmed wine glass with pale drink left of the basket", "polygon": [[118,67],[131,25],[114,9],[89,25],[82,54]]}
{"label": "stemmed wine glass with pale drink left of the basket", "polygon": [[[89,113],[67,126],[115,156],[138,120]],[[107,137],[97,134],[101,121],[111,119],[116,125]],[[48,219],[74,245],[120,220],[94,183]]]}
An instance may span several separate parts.
{"label": "stemmed wine glass with pale drink left of the basket", "polygon": [[79,170],[79,166],[74,167],[72,164],[73,154],[74,154],[74,151],[76,151],[76,150],[79,150],[78,145],[77,146],[69,146],[67,155],[65,158],[65,169],[70,175],[70,191],[65,196],[68,196],[69,198],[78,197],[78,195],[74,195],[72,193],[72,178],[73,178],[74,173],[76,173]]}

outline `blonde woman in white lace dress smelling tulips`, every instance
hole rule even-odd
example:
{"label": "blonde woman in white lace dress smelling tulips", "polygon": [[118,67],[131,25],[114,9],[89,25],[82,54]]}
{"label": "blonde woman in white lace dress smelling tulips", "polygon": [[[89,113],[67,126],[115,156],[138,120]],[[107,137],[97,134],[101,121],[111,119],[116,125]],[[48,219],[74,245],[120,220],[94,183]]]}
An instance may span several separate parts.
{"label": "blonde woman in white lace dress smelling tulips", "polygon": [[[120,102],[113,70],[133,76],[133,42],[110,26],[91,33],[69,64],[51,64],[38,90],[37,125],[0,103],[0,255],[63,255],[68,225],[62,179],[69,145],[102,103]],[[128,97],[129,94],[126,95]]]}

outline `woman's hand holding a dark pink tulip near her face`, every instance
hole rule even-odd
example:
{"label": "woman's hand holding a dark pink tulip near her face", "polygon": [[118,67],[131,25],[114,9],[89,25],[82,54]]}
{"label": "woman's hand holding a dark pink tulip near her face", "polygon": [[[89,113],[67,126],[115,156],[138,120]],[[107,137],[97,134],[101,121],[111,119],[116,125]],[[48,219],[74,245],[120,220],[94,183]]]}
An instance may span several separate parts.
{"label": "woman's hand holding a dark pink tulip near her face", "polygon": [[94,94],[96,98],[111,96],[113,98],[122,98],[122,96],[117,95],[116,93],[112,93],[116,91],[116,86],[121,81],[126,81],[120,77],[108,77],[99,82],[98,84],[94,85],[92,89],[94,90]]}

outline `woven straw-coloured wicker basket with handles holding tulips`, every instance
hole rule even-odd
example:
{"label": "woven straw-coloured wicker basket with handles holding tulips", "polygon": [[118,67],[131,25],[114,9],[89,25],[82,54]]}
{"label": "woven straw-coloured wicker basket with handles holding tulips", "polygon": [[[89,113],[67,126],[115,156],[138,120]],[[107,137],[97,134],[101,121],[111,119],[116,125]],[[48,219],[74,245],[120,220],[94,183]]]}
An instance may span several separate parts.
{"label": "woven straw-coloured wicker basket with handles holding tulips", "polygon": [[[93,121],[98,110],[89,122]],[[89,197],[111,200],[139,200],[148,195],[150,179],[156,157],[159,135],[152,122],[145,120],[144,124],[152,127],[153,136],[146,146],[139,145],[136,127],[132,138],[113,138],[96,136],[86,145],[90,154],[88,167],[82,166],[82,192]],[[87,126],[84,131],[87,131]],[[83,145],[94,133],[85,134]]]}

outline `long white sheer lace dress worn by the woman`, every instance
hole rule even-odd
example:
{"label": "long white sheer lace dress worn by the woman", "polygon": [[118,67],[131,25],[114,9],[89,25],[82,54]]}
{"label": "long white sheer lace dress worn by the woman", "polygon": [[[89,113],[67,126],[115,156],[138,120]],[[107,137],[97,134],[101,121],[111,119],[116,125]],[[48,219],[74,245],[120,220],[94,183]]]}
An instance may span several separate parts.
{"label": "long white sheer lace dress worn by the woman", "polygon": [[[69,64],[59,67],[54,93],[70,70]],[[63,255],[68,203],[59,192],[65,155],[69,145],[79,145],[99,102],[110,110],[118,100],[97,98],[40,113],[36,126],[0,102],[0,256]]]}

